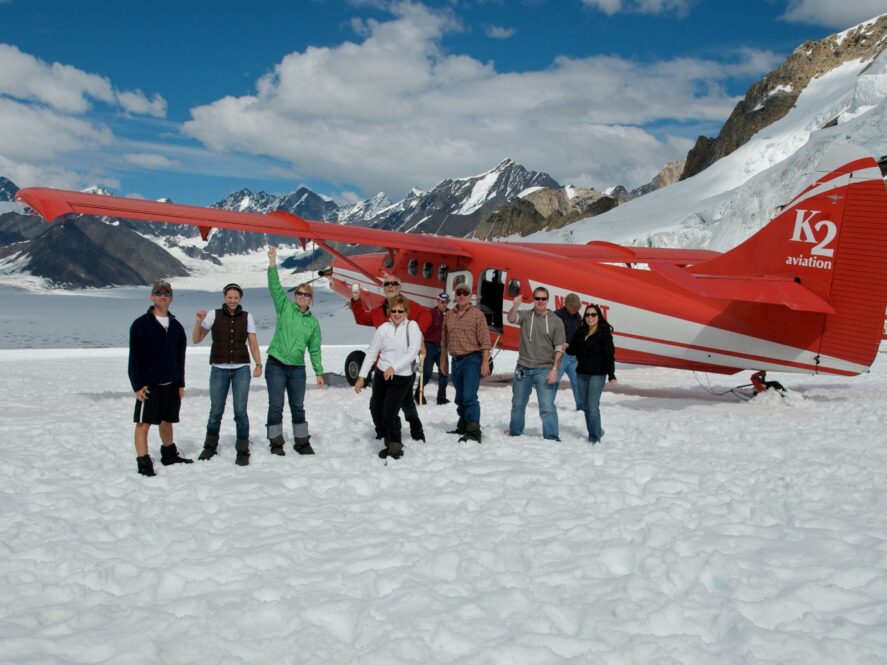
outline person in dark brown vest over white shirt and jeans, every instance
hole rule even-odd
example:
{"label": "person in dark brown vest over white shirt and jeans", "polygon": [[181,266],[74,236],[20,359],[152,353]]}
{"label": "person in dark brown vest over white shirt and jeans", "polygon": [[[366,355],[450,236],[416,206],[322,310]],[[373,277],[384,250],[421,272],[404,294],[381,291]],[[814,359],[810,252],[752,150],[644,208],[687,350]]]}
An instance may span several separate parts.
{"label": "person in dark brown vest over white shirt and jeans", "polygon": [[[209,460],[216,454],[219,445],[219,430],[225,414],[228,390],[233,393],[234,423],[237,426],[236,464],[249,464],[249,356],[253,356],[256,367],[253,377],[262,376],[262,355],[256,340],[256,322],[253,315],[245,312],[240,305],[243,289],[237,284],[228,284],[222,289],[224,302],[219,309],[202,309],[197,312],[191,341],[200,344],[212,331],[212,347],[209,354],[209,420],[206,422],[206,440],[203,452],[198,459]],[[247,349],[249,346],[249,349]]]}

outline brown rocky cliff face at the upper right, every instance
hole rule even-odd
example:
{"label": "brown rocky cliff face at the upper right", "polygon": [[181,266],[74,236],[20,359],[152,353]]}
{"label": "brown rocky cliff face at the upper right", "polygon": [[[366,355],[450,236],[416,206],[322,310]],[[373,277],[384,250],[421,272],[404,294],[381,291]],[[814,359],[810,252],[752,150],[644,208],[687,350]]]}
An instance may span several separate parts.
{"label": "brown rocky cliff face at the upper right", "polygon": [[851,60],[872,60],[887,45],[887,16],[801,44],[788,59],[752,85],[716,138],[700,136],[687,155],[681,179],[696,175],[785,116],[811,79]]}

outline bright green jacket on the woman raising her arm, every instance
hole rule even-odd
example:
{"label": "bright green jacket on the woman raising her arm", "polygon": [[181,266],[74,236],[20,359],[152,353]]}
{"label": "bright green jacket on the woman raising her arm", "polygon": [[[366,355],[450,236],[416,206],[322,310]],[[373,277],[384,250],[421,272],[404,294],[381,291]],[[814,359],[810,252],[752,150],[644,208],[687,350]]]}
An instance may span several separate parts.
{"label": "bright green jacket on the woman raising her arm", "polygon": [[311,366],[317,376],[323,374],[320,354],[320,323],[311,310],[302,313],[298,305],[287,298],[280,285],[277,267],[268,268],[268,290],[277,312],[274,338],[268,347],[268,355],[287,365],[305,365],[305,351],[311,354]]}

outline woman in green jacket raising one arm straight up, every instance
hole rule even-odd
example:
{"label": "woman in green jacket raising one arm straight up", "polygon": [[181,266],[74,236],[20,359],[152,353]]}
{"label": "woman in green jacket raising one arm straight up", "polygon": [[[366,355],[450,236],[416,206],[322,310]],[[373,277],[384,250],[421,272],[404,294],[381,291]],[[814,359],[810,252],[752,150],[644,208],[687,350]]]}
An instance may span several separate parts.
{"label": "woman in green jacket raising one arm straight up", "polygon": [[311,435],[305,420],[305,353],[311,357],[311,366],[317,376],[317,385],[323,385],[323,363],[320,353],[320,323],[312,316],[311,301],[314,289],[310,284],[299,284],[293,291],[293,300],[286,297],[277,274],[277,248],[268,248],[268,290],[277,312],[274,337],[268,347],[268,365],[265,383],[268,386],[268,441],[274,455],[284,455],[283,394],[289,399],[293,421],[293,450],[300,455],[313,455]]}

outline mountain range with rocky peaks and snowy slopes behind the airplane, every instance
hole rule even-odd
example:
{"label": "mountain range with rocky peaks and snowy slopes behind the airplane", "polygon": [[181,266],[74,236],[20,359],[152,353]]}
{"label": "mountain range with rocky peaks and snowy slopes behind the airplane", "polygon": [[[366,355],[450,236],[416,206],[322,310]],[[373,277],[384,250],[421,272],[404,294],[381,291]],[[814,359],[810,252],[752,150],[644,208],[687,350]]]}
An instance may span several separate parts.
{"label": "mountain range with rocky peaks and snowy slopes behind the airplane", "polygon": [[[303,187],[282,196],[241,189],[213,207],[286,210],[306,219],[414,233],[726,249],[769,219],[765,206],[749,202],[769,197],[775,206],[788,196],[791,174],[809,166],[808,153],[821,152],[817,146],[853,138],[876,155],[887,153],[887,127],[872,120],[887,95],[887,76],[881,74],[887,69],[885,44],[887,16],[802,44],[749,88],[717,137],[699,137],[686,160],[666,165],[630,192],[562,187],[548,174],[506,159],[477,176],[447,179],[427,192],[414,189],[395,203],[380,192],[339,206]],[[854,133],[854,127],[860,129]],[[762,176],[770,169],[785,182]],[[0,201],[13,200],[16,191],[0,178]],[[0,271],[28,272],[71,287],[145,284],[158,274],[184,274],[176,254],[219,263],[269,242],[295,246],[289,237],[227,230],[199,244],[193,227],[76,221],[59,231],[17,212],[0,214]],[[289,265],[312,261],[326,258],[309,253]]]}

